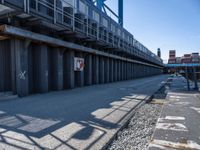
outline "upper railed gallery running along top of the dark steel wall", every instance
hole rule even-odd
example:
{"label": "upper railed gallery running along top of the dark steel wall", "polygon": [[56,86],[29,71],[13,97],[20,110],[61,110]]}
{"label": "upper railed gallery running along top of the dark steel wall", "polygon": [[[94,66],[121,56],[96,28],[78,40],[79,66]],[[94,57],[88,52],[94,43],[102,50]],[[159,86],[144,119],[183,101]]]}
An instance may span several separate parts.
{"label": "upper railed gallery running along top of the dark steel wall", "polygon": [[[21,8],[20,0],[1,0],[1,3],[14,3]],[[122,51],[129,52],[136,56],[145,57],[148,61],[162,64],[160,58],[152,57],[152,52],[149,51],[136,39],[135,42],[124,39],[118,33],[112,32],[104,27],[103,24],[93,20],[88,14],[80,12],[76,8],[75,0],[73,4],[66,0],[21,0],[23,3],[23,11],[27,14],[37,14],[41,17],[46,17],[53,24],[58,24],[63,27],[63,30],[72,30],[93,40],[102,41],[106,45],[118,48]],[[87,3],[85,1],[85,3]],[[91,5],[87,3],[87,5]],[[101,16],[101,14],[99,14]],[[128,37],[126,35],[126,37]],[[144,55],[144,56],[143,56]],[[146,56],[147,55],[147,56]],[[151,59],[152,58],[152,59]]]}

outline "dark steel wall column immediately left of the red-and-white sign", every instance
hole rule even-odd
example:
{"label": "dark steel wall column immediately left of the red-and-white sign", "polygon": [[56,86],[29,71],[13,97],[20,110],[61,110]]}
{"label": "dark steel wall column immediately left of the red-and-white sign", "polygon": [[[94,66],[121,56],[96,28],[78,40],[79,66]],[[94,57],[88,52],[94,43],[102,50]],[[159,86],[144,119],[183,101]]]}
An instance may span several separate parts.
{"label": "dark steel wall column immediately left of the red-and-white sign", "polygon": [[72,89],[75,87],[74,74],[74,51],[67,50],[64,53],[64,88]]}

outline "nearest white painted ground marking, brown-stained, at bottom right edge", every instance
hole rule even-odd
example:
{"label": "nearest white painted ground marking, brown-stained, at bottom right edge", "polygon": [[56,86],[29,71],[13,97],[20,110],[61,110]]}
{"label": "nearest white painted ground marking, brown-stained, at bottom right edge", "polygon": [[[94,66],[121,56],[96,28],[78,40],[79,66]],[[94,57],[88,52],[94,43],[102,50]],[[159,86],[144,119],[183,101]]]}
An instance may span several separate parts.
{"label": "nearest white painted ground marking, brown-stained, at bottom right edge", "polygon": [[165,148],[175,148],[175,149],[198,149],[200,150],[200,145],[194,141],[188,140],[187,143],[175,143],[171,141],[164,140],[153,140],[151,142],[154,145],[165,147]]}

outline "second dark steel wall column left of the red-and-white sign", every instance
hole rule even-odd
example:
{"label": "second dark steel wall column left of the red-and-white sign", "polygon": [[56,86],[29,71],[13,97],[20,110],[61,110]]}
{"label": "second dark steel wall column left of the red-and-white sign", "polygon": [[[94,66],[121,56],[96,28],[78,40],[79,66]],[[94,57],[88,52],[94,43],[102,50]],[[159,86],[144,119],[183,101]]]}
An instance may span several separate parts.
{"label": "second dark steel wall column left of the red-and-white sign", "polygon": [[[54,90],[62,90],[64,79],[63,79],[63,54],[59,48],[52,49],[52,60],[50,63],[52,64],[50,67],[51,76],[53,79],[52,88]],[[51,79],[50,79],[51,80]],[[52,82],[52,81],[49,81]]]}

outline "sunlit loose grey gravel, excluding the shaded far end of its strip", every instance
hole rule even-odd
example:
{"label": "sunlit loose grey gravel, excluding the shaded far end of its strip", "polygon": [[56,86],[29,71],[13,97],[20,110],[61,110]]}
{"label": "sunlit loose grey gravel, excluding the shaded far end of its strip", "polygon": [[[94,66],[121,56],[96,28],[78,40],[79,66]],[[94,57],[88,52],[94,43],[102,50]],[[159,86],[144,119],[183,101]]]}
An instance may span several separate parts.
{"label": "sunlit loose grey gravel, excluding the shaded far end of its strip", "polygon": [[145,104],[140,107],[127,128],[120,131],[109,150],[145,150],[153,134],[162,105]]}

